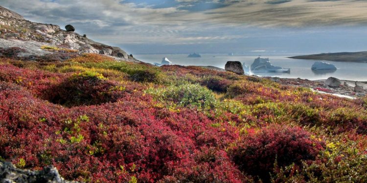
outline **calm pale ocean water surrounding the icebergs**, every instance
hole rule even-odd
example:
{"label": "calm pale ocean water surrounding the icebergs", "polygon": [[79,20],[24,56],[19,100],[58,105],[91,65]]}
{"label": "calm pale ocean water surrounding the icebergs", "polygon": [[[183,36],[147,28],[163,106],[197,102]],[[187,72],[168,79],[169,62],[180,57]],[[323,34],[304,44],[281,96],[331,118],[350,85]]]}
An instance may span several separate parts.
{"label": "calm pale ocean water surrounding the icebergs", "polygon": [[[202,54],[201,58],[188,58],[187,54],[154,54],[154,55],[134,55],[140,61],[148,63],[161,63],[163,57],[167,57],[173,64],[178,65],[203,65],[223,68],[227,61],[241,61],[250,66],[258,56],[229,56],[219,54]],[[308,80],[323,80],[328,77],[335,77],[341,80],[367,81],[367,63],[326,61],[334,64],[338,70],[335,71],[313,71],[312,64],[315,60],[288,59],[288,56],[262,56],[269,58],[275,66],[290,68],[290,73],[252,73],[258,76],[272,76],[279,78],[301,78]]]}

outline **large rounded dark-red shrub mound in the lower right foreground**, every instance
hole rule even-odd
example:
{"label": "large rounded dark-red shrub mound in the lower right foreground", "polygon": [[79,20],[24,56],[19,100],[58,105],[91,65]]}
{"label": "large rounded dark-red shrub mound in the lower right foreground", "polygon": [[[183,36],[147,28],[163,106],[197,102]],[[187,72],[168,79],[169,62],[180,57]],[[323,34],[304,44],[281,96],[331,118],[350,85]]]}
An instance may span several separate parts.
{"label": "large rounded dark-red shrub mound in the lower right foreground", "polygon": [[229,155],[242,171],[267,181],[275,161],[286,166],[315,160],[323,144],[300,127],[273,124],[242,137]]}

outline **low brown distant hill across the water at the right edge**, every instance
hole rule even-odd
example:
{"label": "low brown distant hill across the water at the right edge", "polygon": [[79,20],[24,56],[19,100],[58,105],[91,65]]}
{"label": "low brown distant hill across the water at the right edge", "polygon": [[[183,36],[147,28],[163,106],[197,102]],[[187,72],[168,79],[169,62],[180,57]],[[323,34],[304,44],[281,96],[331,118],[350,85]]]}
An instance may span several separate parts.
{"label": "low brown distant hill across the water at the right edge", "polygon": [[367,62],[367,51],[362,52],[339,52],[339,53],[321,53],[315,55],[302,55],[289,57],[291,59],[323,60],[323,61],[353,61]]}

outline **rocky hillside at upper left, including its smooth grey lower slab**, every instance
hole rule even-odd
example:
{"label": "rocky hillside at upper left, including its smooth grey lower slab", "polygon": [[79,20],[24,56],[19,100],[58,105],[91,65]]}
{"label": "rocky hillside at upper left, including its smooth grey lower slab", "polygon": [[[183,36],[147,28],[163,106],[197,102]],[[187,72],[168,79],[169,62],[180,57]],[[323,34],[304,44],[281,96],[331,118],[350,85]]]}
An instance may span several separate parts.
{"label": "rocky hillside at upper left, including its smooth grey lower slab", "polygon": [[26,60],[63,61],[73,57],[73,53],[98,53],[118,60],[139,62],[118,47],[93,41],[58,25],[24,20],[21,15],[1,6],[0,47],[20,47],[18,57]]}

